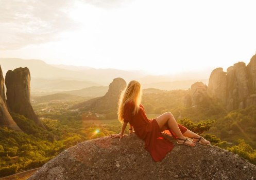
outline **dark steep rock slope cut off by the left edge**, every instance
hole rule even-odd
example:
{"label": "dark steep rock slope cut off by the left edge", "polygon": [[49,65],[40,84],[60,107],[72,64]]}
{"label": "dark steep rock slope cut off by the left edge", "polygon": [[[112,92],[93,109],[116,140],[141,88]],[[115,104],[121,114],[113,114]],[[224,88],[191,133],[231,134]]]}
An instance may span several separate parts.
{"label": "dark steep rock slope cut off by the left edge", "polygon": [[13,121],[7,106],[5,99],[5,86],[2,68],[0,66],[0,127],[8,127],[12,130],[21,131],[19,126]]}

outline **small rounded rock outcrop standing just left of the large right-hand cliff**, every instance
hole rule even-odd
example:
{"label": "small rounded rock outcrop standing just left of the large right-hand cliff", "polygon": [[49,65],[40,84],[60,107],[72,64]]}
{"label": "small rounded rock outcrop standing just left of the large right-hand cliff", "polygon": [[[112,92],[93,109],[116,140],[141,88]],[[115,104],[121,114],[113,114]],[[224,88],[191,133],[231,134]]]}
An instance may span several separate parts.
{"label": "small rounded rock outcrop standing just left of the large right-hand cliff", "polygon": [[201,104],[205,104],[205,101],[208,99],[207,94],[207,86],[204,85],[202,82],[196,82],[191,85],[190,93],[192,96],[192,105],[198,106]]}

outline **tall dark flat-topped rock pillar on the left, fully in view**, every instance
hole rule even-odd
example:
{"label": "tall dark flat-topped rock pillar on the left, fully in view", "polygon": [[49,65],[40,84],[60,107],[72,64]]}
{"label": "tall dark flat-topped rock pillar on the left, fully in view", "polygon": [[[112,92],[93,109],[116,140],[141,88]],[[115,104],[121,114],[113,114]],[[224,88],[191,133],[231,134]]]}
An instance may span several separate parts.
{"label": "tall dark flat-topped rock pillar on the left, fully in view", "polygon": [[17,68],[6,73],[6,96],[11,112],[24,115],[44,128],[30,103],[30,72],[28,68]]}

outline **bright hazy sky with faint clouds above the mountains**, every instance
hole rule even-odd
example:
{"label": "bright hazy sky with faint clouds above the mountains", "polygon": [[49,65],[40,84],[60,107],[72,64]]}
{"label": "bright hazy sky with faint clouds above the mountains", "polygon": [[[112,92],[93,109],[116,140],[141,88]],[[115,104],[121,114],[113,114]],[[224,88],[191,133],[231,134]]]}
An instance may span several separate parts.
{"label": "bright hazy sky with faint clouds above the mountains", "polygon": [[255,1],[0,0],[0,57],[48,64],[201,71],[249,63]]}

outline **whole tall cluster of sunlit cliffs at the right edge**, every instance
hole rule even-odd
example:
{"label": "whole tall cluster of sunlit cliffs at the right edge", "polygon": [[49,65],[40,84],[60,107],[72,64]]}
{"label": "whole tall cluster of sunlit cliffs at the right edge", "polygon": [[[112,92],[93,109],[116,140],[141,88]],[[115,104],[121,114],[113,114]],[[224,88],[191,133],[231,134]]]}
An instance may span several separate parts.
{"label": "whole tall cluster of sunlit cliffs at the right edge", "polygon": [[228,111],[256,105],[256,55],[250,63],[238,62],[224,72],[222,68],[212,71],[208,94],[219,99]]}

